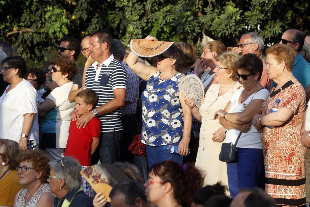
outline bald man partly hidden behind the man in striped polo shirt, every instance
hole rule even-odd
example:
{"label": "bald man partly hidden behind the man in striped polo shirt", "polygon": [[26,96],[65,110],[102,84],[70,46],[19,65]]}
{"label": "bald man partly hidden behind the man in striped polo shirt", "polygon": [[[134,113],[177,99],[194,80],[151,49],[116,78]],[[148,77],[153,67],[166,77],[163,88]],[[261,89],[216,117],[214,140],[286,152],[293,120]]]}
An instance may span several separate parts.
{"label": "bald man partly hidden behind the man in striped polo shirt", "polygon": [[[81,52],[82,52],[83,56],[86,58],[86,61],[87,61],[87,58],[89,57],[89,53],[88,53],[89,39],[90,39],[90,36],[86,36],[82,39],[82,42],[81,42],[81,45],[82,45]],[[85,65],[84,65],[84,67],[85,67]],[[68,99],[71,103],[75,101],[75,97],[78,94],[78,92],[80,92],[84,89],[84,88],[82,88],[84,67],[82,67],[78,71],[77,78],[75,79],[75,81],[72,85],[71,91],[69,93]]]}

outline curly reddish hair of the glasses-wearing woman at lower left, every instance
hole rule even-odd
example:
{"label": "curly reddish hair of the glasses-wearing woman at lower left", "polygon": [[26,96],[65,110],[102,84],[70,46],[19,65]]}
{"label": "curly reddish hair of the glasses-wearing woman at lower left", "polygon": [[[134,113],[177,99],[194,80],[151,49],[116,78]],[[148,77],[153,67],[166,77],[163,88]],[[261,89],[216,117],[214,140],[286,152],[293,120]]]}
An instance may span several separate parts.
{"label": "curly reddish hair of the glasses-wearing woman at lower left", "polygon": [[20,163],[23,161],[29,161],[32,163],[32,167],[36,171],[41,171],[41,182],[47,183],[47,175],[50,173],[50,166],[48,163],[51,158],[42,150],[26,150],[20,157]]}

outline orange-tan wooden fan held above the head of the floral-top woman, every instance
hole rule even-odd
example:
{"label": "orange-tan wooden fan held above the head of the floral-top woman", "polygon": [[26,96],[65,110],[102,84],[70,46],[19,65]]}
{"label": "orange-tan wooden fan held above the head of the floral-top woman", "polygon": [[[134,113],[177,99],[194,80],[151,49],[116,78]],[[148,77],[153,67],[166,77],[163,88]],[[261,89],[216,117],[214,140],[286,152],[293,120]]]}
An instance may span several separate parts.
{"label": "orange-tan wooden fan held above the head of the floral-top woman", "polygon": [[173,42],[132,39],[130,41],[130,49],[137,56],[153,57],[165,52],[172,44]]}

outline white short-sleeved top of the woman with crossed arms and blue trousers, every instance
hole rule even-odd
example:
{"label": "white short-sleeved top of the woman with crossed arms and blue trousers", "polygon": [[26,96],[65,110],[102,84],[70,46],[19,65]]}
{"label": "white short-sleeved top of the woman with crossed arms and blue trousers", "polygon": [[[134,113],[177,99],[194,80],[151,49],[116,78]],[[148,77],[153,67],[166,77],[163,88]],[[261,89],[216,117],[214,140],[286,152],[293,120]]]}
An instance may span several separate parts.
{"label": "white short-sleeved top of the woman with crossed arms and blue trousers", "polygon": [[[244,90],[244,88],[240,88],[238,89],[231,97],[230,102],[232,103],[230,106],[230,109],[228,110],[228,113],[238,113],[243,111],[246,106],[254,99],[263,99],[266,100],[266,98],[269,95],[269,92],[267,89],[262,89],[257,93],[253,93],[252,95],[250,95],[246,101],[244,101],[243,103],[239,104],[238,103],[238,99],[241,95],[241,92]],[[253,98],[253,99],[252,99]],[[261,107],[261,106],[257,106],[257,107]],[[226,133],[226,138],[225,138],[225,142],[226,143],[230,143],[232,142],[232,144],[235,144],[238,135],[239,135],[240,131],[238,131],[237,129],[229,129]],[[253,126],[253,124],[251,124],[250,130],[247,133],[242,133],[239,141],[237,143],[237,147],[241,147],[241,148],[255,148],[255,149],[263,149],[262,143],[260,141],[260,133],[255,129],[255,127]]]}

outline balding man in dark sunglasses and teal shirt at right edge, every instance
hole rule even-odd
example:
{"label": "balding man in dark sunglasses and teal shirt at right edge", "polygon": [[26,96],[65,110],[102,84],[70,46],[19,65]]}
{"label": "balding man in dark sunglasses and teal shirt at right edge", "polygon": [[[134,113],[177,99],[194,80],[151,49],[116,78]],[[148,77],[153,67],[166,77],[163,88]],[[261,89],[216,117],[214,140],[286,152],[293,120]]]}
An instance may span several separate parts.
{"label": "balding man in dark sunglasses and teal shirt at right edge", "polygon": [[[286,44],[295,51],[295,60],[293,65],[293,75],[305,88],[307,100],[310,98],[310,66],[301,56],[305,37],[297,29],[286,30],[280,38],[279,44]],[[308,89],[309,88],[309,89]]]}

